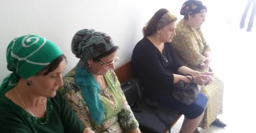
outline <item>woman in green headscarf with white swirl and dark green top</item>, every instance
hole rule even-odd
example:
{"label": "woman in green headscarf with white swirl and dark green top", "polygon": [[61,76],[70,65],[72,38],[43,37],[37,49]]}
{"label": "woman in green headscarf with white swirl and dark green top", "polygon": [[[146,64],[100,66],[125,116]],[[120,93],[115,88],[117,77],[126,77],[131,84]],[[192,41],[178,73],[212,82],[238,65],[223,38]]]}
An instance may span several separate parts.
{"label": "woman in green headscarf with white swirl and dark green top", "polygon": [[[84,126],[61,94],[66,57],[37,35],[15,38],[7,48],[12,73],[0,87],[0,132],[82,132]],[[83,132],[86,132],[84,130]]]}

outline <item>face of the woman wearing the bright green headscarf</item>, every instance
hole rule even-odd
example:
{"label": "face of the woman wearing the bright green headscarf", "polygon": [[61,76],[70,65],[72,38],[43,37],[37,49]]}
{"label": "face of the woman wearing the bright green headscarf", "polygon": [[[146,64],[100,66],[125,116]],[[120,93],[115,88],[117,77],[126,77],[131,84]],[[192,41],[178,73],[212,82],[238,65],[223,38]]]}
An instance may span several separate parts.
{"label": "face of the woman wearing the bright green headscarf", "polygon": [[37,96],[54,97],[59,87],[63,86],[62,73],[66,68],[66,60],[63,59],[58,67],[47,75],[47,70],[28,78],[32,81],[31,91]]}

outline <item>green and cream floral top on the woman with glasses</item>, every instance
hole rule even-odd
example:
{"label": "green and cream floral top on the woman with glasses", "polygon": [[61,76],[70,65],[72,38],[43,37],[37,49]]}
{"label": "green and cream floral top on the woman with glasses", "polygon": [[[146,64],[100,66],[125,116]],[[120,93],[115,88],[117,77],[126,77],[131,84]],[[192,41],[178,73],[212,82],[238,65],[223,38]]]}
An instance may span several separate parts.
{"label": "green and cream floral top on the woman with glasses", "polygon": [[139,126],[125,96],[120,83],[113,70],[104,75],[108,84],[105,90],[101,90],[99,98],[104,106],[104,121],[96,125],[90,117],[87,103],[82,98],[81,88],[75,83],[75,69],[63,77],[64,86],[60,92],[66,97],[78,118],[86,127],[91,127],[95,132],[129,132]]}

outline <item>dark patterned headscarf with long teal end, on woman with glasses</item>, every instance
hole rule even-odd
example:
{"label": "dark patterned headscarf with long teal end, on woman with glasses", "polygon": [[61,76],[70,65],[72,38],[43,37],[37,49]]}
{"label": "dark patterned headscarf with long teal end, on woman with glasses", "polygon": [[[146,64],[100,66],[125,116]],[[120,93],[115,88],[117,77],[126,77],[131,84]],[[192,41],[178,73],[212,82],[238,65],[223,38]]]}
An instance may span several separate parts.
{"label": "dark patterned headscarf with long teal end, on woman with glasses", "polygon": [[72,52],[80,58],[76,66],[76,84],[81,87],[83,100],[87,103],[90,116],[98,125],[104,120],[105,109],[99,99],[100,86],[87,71],[86,60],[102,55],[114,47],[117,46],[109,35],[94,30],[80,30],[72,40]]}

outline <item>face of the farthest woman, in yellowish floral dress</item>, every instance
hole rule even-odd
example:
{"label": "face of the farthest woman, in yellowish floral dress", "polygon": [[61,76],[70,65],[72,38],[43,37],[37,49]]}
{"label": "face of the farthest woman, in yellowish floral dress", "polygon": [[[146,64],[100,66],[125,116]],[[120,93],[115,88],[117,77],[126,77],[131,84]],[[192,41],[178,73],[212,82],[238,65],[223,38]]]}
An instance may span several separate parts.
{"label": "face of the farthest woman, in yellowish floral dress", "polygon": [[188,15],[189,26],[199,29],[205,21],[206,12]]}

